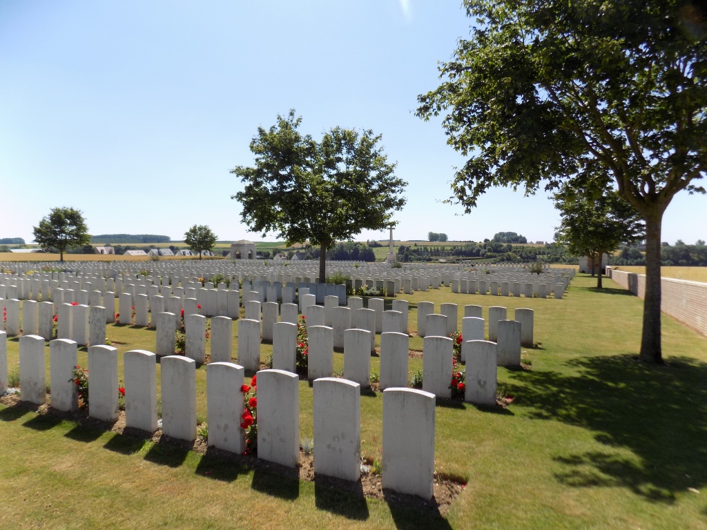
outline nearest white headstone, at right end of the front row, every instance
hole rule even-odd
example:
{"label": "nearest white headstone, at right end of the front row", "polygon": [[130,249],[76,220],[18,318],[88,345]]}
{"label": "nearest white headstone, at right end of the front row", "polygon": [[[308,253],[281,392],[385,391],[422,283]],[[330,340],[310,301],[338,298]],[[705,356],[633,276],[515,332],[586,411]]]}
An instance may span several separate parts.
{"label": "nearest white headstone, at right end of the front row", "polygon": [[383,391],[382,487],[433,495],[435,396],[409,388]]}

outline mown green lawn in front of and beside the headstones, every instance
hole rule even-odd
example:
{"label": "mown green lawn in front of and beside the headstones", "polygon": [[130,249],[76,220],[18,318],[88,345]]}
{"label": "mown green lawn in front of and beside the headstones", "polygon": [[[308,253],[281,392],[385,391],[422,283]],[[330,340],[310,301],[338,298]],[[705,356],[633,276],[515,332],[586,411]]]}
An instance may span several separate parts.
{"label": "mown green lawn in front of and beside the headstones", "polygon": [[[498,370],[513,403],[436,410],[436,468],[467,481],[445,518],[0,406],[0,528],[707,529],[707,338],[664,315],[668,365],[640,365],[642,301],[610,280],[594,284],[578,274],[563,300],[448,288],[404,296],[411,331],[423,300],[436,310],[456,302],[460,322],[464,304],[483,305],[484,317],[491,305],[509,317],[535,310],[530,370]],[[111,325],[107,335],[125,343],[121,353],[154,348],[154,331]],[[11,369],[17,359],[11,339]],[[378,357],[371,364],[378,370]],[[342,365],[335,354],[334,370]],[[205,379],[201,367],[200,419]],[[300,423],[312,437],[306,382]],[[362,453],[378,457],[380,394],[361,397],[361,423]]]}

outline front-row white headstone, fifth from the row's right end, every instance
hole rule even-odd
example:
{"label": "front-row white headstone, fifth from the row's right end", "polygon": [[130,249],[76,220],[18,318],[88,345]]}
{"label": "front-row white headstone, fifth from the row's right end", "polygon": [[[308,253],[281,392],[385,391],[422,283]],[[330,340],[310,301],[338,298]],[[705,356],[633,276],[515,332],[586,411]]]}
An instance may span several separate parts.
{"label": "front-row white headstone, fifth from the row's right end", "polygon": [[162,432],[193,442],[197,439],[197,363],[182,355],[168,355],[160,360],[160,367]]}

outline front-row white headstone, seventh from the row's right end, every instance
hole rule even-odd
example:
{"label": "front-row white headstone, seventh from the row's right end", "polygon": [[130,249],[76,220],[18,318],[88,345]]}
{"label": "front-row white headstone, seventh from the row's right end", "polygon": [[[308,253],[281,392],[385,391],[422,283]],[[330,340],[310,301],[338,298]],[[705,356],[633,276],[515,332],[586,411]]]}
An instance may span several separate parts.
{"label": "front-row white headstone, seventh from the row's right end", "polygon": [[118,419],[118,350],[100,344],[88,347],[88,416]]}

